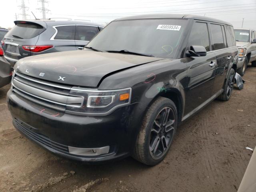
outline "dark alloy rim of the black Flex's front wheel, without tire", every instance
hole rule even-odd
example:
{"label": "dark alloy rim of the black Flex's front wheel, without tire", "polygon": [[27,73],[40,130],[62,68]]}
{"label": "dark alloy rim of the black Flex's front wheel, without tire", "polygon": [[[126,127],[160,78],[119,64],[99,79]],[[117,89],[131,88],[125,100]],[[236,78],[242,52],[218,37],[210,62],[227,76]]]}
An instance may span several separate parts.
{"label": "dark alloy rim of the black Flex's front wheel, without tire", "polygon": [[170,107],[163,108],[151,128],[149,150],[152,158],[161,158],[170,147],[174,137],[175,116]]}

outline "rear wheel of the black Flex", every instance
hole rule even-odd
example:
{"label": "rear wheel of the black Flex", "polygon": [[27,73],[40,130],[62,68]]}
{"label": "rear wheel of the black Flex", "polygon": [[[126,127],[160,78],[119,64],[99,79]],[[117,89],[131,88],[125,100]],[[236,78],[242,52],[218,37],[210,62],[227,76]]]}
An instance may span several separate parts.
{"label": "rear wheel of the black Flex", "polygon": [[219,100],[228,101],[230,99],[230,96],[234,88],[234,81],[235,81],[235,70],[230,69],[228,78],[223,87],[224,91],[222,92],[222,94],[220,94],[220,96],[218,96]]}

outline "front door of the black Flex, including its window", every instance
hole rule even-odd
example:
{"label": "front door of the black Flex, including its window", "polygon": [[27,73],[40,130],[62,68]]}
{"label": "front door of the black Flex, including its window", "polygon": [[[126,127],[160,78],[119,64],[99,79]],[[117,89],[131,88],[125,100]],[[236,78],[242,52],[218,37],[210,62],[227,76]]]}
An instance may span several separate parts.
{"label": "front door of the black Flex, including its window", "polygon": [[186,89],[185,114],[190,116],[204,106],[212,97],[216,58],[210,47],[210,36],[206,22],[194,22],[187,50],[192,45],[206,48],[206,56],[187,58],[188,87]]}

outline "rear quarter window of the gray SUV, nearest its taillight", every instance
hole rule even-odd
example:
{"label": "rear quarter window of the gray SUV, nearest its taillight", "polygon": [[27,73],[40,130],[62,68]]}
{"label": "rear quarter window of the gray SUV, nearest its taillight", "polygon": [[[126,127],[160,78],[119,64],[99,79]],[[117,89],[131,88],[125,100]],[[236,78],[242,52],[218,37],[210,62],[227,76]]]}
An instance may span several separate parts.
{"label": "rear quarter window of the gray SUV, nearest its taillight", "polygon": [[75,25],[67,25],[67,26],[58,26],[56,27],[58,30],[54,39],[57,40],[74,40],[75,39]]}

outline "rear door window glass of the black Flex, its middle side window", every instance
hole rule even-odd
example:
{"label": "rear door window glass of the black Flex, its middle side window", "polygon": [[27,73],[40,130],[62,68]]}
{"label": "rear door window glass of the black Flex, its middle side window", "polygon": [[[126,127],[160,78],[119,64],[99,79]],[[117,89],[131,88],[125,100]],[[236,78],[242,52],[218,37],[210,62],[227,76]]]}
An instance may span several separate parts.
{"label": "rear door window glass of the black Flex, its middle side window", "polygon": [[211,24],[213,50],[226,48],[222,28],[220,25]]}

